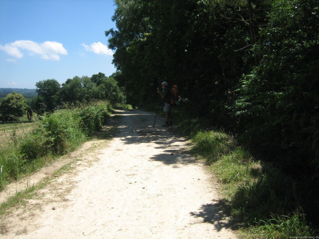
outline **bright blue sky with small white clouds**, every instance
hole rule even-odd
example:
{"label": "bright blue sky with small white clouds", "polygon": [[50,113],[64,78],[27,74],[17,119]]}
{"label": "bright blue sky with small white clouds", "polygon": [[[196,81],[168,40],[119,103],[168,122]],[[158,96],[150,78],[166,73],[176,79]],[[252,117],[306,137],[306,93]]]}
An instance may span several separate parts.
{"label": "bright blue sky with small white clouds", "polygon": [[0,88],[115,72],[113,0],[0,0]]}

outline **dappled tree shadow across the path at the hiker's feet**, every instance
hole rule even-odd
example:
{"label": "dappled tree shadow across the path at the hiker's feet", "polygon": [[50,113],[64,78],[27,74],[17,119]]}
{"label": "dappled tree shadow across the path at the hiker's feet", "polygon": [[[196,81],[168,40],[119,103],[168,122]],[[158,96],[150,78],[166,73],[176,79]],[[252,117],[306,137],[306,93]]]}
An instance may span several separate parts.
{"label": "dappled tree shadow across the path at the hiker's feet", "polygon": [[[190,155],[187,139],[177,127],[161,127],[161,117],[155,127],[151,125],[152,113],[138,110],[121,112],[108,119],[101,133],[96,134],[100,139],[120,138],[124,144],[156,144],[154,148],[162,149],[162,153],[150,157],[151,160],[162,161],[165,164],[194,163]],[[169,155],[169,157],[167,157]]]}

